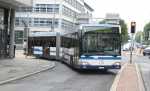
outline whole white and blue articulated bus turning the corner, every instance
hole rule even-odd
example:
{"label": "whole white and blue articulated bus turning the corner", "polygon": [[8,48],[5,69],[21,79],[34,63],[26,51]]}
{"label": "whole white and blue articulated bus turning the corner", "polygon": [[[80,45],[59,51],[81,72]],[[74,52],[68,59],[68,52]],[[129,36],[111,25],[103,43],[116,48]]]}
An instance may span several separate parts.
{"label": "whole white and blue articulated bus turning the corner", "polygon": [[32,35],[28,51],[50,59],[55,56],[76,69],[120,69],[120,33],[119,25],[84,24],[74,33]]}

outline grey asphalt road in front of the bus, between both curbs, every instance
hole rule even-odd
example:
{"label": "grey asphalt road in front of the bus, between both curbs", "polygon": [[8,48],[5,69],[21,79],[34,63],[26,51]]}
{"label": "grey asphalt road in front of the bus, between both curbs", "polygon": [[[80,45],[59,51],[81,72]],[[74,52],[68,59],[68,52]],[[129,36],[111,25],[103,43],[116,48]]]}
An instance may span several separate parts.
{"label": "grey asphalt road in front of the bus, between both curbs", "polygon": [[77,72],[56,62],[56,67],[1,85],[0,91],[109,91],[116,70]]}

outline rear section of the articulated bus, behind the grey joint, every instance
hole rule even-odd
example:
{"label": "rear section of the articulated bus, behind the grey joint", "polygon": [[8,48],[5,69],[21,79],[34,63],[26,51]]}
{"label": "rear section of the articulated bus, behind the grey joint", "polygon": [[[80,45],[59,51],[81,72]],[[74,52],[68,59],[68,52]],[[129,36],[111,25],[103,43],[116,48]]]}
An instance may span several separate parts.
{"label": "rear section of the articulated bus, behind the grey joint", "polygon": [[28,38],[28,55],[38,58],[56,59],[59,47],[59,34],[54,32],[35,32]]}

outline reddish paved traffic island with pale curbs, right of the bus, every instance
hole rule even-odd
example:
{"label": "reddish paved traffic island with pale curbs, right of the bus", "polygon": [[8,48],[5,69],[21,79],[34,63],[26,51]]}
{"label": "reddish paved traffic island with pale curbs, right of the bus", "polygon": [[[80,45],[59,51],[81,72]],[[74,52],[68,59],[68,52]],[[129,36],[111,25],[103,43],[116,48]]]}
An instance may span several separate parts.
{"label": "reddish paved traffic island with pale curbs, right of the bus", "polygon": [[137,65],[125,64],[110,91],[145,91]]}

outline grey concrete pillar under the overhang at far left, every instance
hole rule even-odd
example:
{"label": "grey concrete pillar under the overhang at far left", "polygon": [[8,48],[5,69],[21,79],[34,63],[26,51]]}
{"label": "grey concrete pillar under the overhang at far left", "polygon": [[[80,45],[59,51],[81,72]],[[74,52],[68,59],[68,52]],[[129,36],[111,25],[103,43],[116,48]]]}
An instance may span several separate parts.
{"label": "grey concrete pillar under the overhang at far left", "polygon": [[14,57],[14,40],[15,40],[15,31],[14,31],[14,26],[15,26],[15,10],[10,9],[10,50],[9,50],[9,56],[10,58]]}

